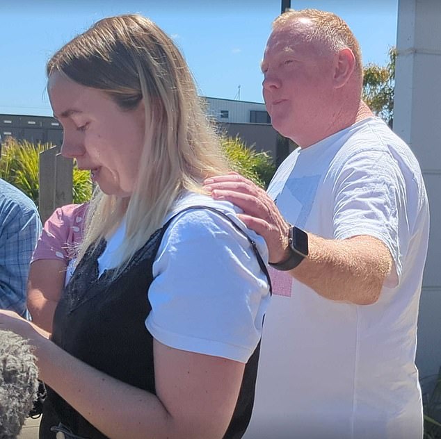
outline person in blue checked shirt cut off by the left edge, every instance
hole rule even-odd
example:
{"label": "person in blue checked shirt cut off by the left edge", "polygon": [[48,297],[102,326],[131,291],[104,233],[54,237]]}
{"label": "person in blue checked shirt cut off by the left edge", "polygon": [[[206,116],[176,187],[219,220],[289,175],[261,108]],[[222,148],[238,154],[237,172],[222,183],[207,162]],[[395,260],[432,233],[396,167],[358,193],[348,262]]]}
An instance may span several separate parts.
{"label": "person in blue checked shirt cut off by the left edge", "polygon": [[0,308],[22,317],[28,315],[26,281],[41,229],[33,201],[0,179]]}

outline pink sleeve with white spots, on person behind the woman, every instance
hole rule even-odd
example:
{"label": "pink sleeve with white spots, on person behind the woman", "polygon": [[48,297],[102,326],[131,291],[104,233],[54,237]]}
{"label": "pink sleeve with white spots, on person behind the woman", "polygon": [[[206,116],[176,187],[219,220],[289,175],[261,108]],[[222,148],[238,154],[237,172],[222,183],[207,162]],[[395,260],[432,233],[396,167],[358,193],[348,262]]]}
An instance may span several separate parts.
{"label": "pink sleeve with white spots, on person behind the woman", "polygon": [[67,265],[75,257],[77,245],[83,238],[87,206],[88,203],[67,204],[52,213],[45,222],[31,263],[39,259],[61,259]]}

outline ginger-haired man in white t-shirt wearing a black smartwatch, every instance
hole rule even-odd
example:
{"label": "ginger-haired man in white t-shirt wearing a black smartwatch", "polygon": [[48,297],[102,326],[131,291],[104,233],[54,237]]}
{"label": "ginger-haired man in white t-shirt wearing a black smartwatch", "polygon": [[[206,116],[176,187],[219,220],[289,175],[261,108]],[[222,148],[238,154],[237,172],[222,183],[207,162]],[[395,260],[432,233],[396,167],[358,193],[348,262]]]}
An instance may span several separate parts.
{"label": "ginger-haired man in white t-shirt wearing a black smartwatch", "polygon": [[422,438],[417,160],[362,102],[360,49],[336,15],[275,19],[262,72],[271,122],[300,148],[268,195],[236,174],[205,182],[243,209],[274,269],[246,438]]}

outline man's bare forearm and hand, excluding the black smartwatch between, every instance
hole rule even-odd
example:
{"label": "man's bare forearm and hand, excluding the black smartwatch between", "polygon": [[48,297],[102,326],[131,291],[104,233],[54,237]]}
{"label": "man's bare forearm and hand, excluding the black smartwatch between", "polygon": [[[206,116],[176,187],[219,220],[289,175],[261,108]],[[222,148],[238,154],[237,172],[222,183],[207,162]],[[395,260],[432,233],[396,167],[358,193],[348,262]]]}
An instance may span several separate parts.
{"label": "man's bare forearm and hand, excluding the black smartwatch between", "polygon": [[[271,262],[287,259],[289,224],[264,190],[234,173],[213,177],[205,185],[215,199],[243,210],[239,217],[265,238]],[[291,276],[327,299],[360,305],[378,300],[392,270],[392,256],[383,242],[367,235],[328,240],[308,233],[308,238],[310,255]]]}

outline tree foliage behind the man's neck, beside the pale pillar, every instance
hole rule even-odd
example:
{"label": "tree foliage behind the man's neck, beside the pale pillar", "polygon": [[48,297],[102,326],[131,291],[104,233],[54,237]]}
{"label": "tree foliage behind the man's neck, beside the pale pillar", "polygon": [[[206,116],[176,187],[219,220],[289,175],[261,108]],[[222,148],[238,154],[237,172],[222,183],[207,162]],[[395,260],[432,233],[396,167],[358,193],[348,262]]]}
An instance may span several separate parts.
{"label": "tree foliage behind the man's neck, beside the pale pillar", "polygon": [[395,61],[396,48],[391,47],[385,66],[368,64],[363,69],[362,99],[390,126],[394,119]]}

